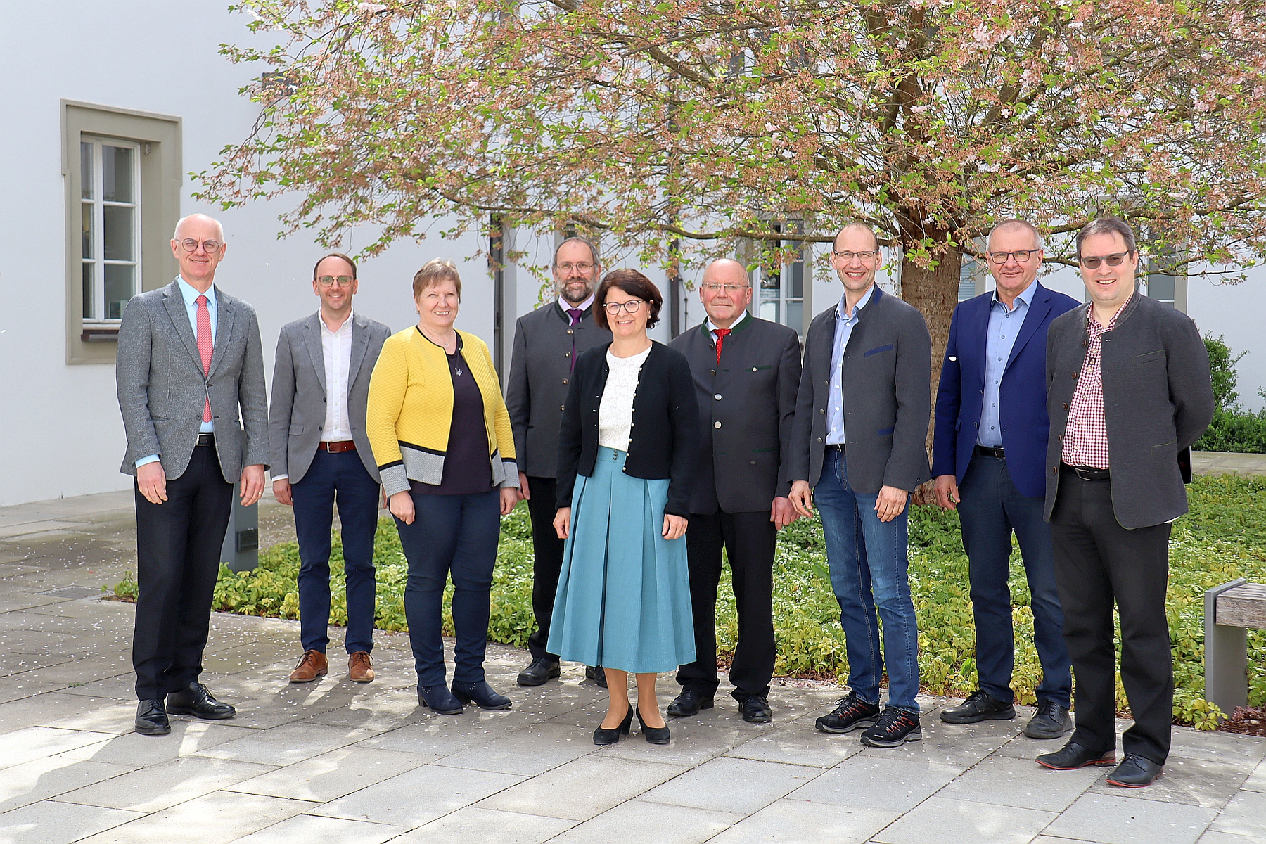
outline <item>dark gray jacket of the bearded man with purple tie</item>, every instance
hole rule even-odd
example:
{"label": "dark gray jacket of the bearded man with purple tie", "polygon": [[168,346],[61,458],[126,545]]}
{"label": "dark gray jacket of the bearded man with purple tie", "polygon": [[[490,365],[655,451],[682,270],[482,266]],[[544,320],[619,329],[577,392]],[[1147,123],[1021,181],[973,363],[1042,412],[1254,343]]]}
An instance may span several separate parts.
{"label": "dark gray jacket of the bearded man with purple tie", "polygon": [[524,314],[514,325],[505,409],[519,471],[528,477],[552,478],[558,472],[558,429],[571,382],[572,343],[579,357],[611,342],[611,333],[594,324],[592,307],[575,329],[570,321],[556,300]]}

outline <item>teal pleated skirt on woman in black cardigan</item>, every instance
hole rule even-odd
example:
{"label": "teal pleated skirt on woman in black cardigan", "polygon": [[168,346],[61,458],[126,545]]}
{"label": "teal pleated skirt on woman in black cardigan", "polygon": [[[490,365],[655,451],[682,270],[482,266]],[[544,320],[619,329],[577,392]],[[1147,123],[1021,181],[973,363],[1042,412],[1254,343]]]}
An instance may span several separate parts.
{"label": "teal pleated skirt on woman in black cardigan", "polygon": [[630,673],[695,661],[686,538],[663,538],[668,481],[629,477],[628,452],[599,447],[576,477],[549,620],[549,653]]}

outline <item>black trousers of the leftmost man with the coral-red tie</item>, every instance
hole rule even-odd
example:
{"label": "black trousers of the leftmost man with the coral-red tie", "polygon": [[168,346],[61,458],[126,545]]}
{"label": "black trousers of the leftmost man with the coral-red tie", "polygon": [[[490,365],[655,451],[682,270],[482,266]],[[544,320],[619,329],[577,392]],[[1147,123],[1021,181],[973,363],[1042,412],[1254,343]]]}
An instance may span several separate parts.
{"label": "black trousers of the leftmost man with the coral-red tie", "polygon": [[132,667],[137,700],[166,697],[203,673],[220,547],[233,509],[214,445],[197,445],[189,468],[167,481],[167,500],[137,497],[137,620]]}

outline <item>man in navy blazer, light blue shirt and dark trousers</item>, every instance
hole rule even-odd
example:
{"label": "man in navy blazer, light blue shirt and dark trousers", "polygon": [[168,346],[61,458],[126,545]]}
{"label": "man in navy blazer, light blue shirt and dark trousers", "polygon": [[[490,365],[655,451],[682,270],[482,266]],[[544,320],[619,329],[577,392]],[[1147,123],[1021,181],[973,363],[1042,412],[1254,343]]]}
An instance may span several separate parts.
{"label": "man in navy blazer, light blue shirt and dark trousers", "polygon": [[1028,576],[1042,683],[1024,728],[1034,739],[1072,729],[1072,677],[1063,611],[1055,583],[1051,529],[1043,520],[1046,332],[1077,301],[1037,281],[1042,235],[1025,220],[1003,220],[989,234],[993,292],[960,302],[937,390],[932,473],[937,502],[958,510],[976,619],[980,688],[941,720],[974,724],[1015,717],[1015,640],[1008,586],[1012,531]]}

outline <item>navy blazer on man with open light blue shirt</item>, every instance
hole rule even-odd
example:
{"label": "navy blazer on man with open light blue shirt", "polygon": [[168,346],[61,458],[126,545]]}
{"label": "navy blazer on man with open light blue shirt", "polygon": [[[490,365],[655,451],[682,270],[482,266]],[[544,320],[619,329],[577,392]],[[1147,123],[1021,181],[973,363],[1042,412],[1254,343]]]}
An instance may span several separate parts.
{"label": "navy blazer on man with open light blue shirt", "polygon": [[[1051,320],[1080,302],[1039,282],[1012,347],[998,391],[1006,471],[1020,495],[1046,495],[1046,445],[1051,420],[1046,413],[1046,333]],[[937,388],[932,475],[967,472],[985,404],[985,343],[994,291],[958,302],[950,323],[950,343]]]}

